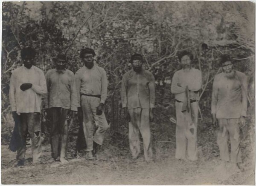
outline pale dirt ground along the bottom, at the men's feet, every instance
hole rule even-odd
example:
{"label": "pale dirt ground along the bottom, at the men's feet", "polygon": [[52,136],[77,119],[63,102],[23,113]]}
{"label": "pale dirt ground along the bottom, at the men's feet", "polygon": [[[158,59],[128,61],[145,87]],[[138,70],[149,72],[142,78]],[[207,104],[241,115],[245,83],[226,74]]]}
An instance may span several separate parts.
{"label": "pale dirt ground along the bottom, at the men's feet", "polygon": [[[49,144],[43,146],[39,164],[32,165],[31,149],[27,149],[26,166],[15,168],[15,152],[2,145],[2,184],[145,184],[145,185],[254,185],[252,164],[241,170],[218,157],[206,160],[175,159],[173,143],[158,145],[155,161],[146,163],[141,153],[131,162],[127,150],[121,156],[109,155],[110,149],[99,152],[98,160],[70,158],[68,163],[52,162]],[[108,154],[108,157],[105,155]]]}

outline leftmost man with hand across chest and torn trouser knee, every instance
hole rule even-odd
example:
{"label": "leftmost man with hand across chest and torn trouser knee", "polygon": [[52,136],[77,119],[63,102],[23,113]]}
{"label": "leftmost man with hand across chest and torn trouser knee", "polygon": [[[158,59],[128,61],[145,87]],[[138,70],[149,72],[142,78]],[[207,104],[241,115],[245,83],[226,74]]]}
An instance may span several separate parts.
{"label": "leftmost man with hand across chest and torn trouser knee", "polygon": [[12,72],[9,91],[12,114],[20,120],[21,146],[17,150],[16,166],[24,165],[27,133],[32,140],[33,163],[41,156],[41,95],[47,91],[43,71],[34,66],[35,50],[23,48],[20,56],[23,66]]}

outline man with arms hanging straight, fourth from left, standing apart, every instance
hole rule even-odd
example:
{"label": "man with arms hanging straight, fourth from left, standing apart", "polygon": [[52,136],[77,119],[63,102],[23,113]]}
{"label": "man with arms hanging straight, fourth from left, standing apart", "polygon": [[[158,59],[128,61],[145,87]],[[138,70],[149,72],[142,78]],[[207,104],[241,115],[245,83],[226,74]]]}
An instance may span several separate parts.
{"label": "man with arms hanging straight, fourth from left, standing apart", "polygon": [[150,121],[153,121],[155,101],[154,76],[142,69],[143,57],[140,54],[131,56],[132,68],[122,78],[122,108],[129,121],[129,143],[133,160],[140,153],[139,132],[143,137],[144,156],[152,160]]}

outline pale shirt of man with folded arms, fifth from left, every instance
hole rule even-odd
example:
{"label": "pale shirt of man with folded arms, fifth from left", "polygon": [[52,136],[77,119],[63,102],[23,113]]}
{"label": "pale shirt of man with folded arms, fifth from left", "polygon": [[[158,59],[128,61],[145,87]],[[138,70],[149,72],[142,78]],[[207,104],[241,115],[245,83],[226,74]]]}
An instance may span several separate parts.
{"label": "pale shirt of man with folded arms, fifth from left", "polygon": [[[180,84],[180,86],[177,85]],[[202,86],[202,74],[198,69],[191,68],[189,71],[178,70],[172,77],[171,92],[175,94],[175,99],[184,101],[186,99],[185,89],[188,86],[189,97],[191,100],[199,100],[198,90]]]}

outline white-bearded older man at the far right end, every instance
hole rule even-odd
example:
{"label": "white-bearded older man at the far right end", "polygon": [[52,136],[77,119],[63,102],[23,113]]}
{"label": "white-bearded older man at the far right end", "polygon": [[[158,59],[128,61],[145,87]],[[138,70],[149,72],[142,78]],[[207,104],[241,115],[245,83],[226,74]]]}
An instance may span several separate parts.
{"label": "white-bearded older man at the far right end", "polygon": [[231,162],[240,163],[239,125],[244,126],[247,112],[247,77],[233,68],[230,55],[221,56],[222,72],[212,86],[212,123],[218,127],[217,143],[220,158],[229,161],[228,133],[231,143]]}

